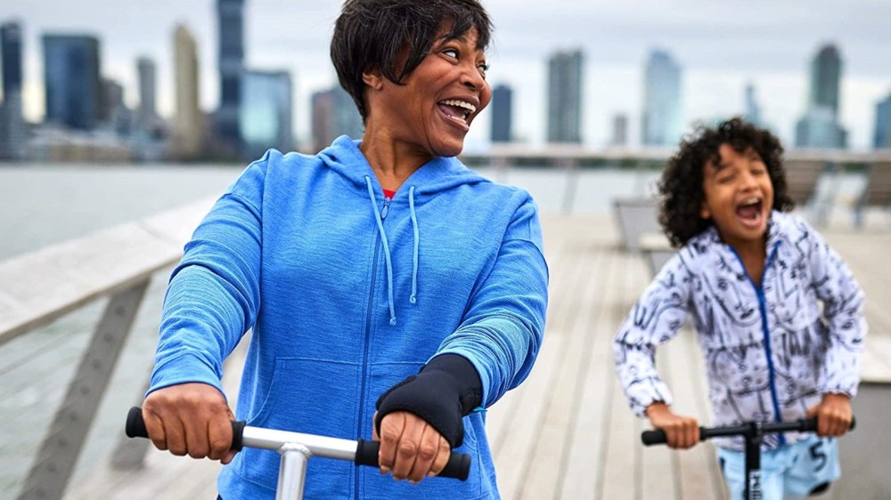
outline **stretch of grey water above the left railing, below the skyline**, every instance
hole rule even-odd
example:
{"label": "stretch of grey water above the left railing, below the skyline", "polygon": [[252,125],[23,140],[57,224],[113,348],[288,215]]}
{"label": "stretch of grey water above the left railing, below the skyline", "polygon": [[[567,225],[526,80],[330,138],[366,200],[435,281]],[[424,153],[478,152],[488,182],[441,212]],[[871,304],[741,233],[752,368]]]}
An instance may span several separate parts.
{"label": "stretch of grey water above the left railing, below the skyline", "polygon": [[0,163],[0,260],[222,192],[240,172]]}

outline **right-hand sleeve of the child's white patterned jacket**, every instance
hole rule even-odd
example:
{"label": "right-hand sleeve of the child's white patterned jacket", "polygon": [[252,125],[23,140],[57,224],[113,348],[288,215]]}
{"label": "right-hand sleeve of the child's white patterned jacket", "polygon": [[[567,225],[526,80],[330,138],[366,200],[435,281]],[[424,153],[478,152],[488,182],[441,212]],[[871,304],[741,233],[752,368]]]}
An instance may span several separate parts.
{"label": "right-hand sleeve of the child's white patterned jacket", "polygon": [[822,394],[837,392],[853,398],[860,383],[860,359],[867,332],[865,296],[847,264],[817,231],[810,229],[807,241],[813,290],[822,301],[823,318],[829,327],[819,388]]}

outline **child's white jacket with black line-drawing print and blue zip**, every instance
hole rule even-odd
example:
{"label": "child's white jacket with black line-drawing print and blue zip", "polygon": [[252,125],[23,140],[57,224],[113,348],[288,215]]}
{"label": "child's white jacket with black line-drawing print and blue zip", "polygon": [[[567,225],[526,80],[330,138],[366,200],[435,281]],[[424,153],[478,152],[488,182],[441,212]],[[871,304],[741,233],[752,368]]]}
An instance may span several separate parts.
{"label": "child's white jacket with black line-drawing print and blue zip", "polygon": [[[656,347],[691,315],[705,357],[713,425],[795,420],[828,392],[854,397],[866,321],[845,262],[804,220],[774,211],[759,288],[715,227],[660,270],[619,329],[616,370],[634,410],[672,403]],[[799,439],[764,437],[765,448]],[[719,446],[742,449],[741,440]]]}

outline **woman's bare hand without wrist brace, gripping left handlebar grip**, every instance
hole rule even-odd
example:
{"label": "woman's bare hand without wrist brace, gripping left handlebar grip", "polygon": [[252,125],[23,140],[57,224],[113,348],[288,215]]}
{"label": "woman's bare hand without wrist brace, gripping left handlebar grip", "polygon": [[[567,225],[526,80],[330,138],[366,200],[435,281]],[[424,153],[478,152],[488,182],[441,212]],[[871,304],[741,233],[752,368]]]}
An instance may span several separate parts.
{"label": "woman's bare hand without wrist brace, gripping left handlebar grip", "polygon": [[176,456],[232,462],[232,410],[216,387],[182,383],[152,391],[143,401],[143,420],[158,449]]}

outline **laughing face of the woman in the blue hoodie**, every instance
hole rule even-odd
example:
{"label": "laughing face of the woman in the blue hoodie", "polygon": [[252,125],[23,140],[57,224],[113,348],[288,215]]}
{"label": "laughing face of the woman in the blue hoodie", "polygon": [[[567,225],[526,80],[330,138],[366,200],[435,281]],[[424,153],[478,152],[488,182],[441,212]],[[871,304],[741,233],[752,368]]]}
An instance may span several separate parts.
{"label": "laughing face of the woman in the blue hoodie", "polygon": [[[397,85],[380,80],[370,100],[368,128],[384,128],[394,141],[438,157],[461,153],[464,135],[492,99],[486,54],[477,50],[477,29],[439,39],[421,64]],[[372,89],[375,92],[375,89]]]}

